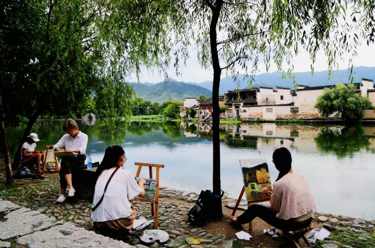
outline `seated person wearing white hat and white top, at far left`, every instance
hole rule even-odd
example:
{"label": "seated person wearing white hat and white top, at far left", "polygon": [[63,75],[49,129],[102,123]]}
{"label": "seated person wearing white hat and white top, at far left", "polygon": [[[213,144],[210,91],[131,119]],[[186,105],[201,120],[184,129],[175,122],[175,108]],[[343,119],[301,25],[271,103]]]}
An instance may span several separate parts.
{"label": "seated person wearing white hat and white top, at far left", "polygon": [[41,173],[40,161],[43,161],[43,152],[36,149],[36,142],[40,141],[36,133],[30,133],[21,148],[21,162],[27,166],[36,165],[36,172]]}

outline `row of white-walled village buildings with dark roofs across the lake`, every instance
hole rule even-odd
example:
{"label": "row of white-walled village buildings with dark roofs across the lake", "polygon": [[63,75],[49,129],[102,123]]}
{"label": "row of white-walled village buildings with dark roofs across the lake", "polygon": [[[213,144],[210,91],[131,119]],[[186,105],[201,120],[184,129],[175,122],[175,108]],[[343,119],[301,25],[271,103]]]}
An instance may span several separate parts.
{"label": "row of white-walled village buildings with dark roofs across the lake", "polygon": [[[354,86],[360,96],[367,96],[372,105],[375,105],[373,80],[362,78],[361,82],[354,83]],[[333,87],[335,85],[298,85],[295,90],[284,87],[257,87],[228,91],[224,94],[225,105],[228,106],[224,118],[323,119],[314,105],[324,89]],[[375,119],[375,111],[366,110],[364,119]]]}

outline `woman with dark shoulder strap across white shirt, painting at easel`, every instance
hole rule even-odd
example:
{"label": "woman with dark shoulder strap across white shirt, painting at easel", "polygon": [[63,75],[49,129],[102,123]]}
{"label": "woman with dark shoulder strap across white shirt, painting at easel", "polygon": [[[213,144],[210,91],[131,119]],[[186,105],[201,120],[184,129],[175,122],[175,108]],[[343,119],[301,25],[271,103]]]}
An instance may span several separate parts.
{"label": "woman with dark shoulder strap across white shirt, painting at easel", "polygon": [[146,181],[141,179],[137,184],[129,171],[119,169],[125,162],[122,147],[110,146],[96,170],[91,219],[96,231],[113,239],[118,239],[121,233],[131,233],[135,209],[129,201],[144,196]]}

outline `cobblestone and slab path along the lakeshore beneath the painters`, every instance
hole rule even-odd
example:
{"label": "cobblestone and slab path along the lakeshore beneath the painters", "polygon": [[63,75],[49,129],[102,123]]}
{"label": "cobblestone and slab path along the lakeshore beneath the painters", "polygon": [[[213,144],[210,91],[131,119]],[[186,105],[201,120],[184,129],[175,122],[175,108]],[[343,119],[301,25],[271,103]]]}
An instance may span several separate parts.
{"label": "cobblestone and slab path along the lakeshore beneath the painters", "polygon": [[[198,198],[192,192],[184,192],[166,187],[160,187],[159,197],[159,229],[169,234],[169,241],[165,244],[154,243],[142,245],[137,233],[127,237],[127,244],[113,241],[92,232],[90,219],[91,203],[79,200],[74,203],[54,203],[58,194],[58,178],[54,174],[46,175],[44,180],[17,180],[16,185],[5,191],[0,190],[0,197],[9,201],[0,201],[0,248],[1,247],[126,247],[137,248],[233,248],[238,247],[233,240],[236,230],[226,232],[228,237],[220,231],[213,234],[207,227],[196,228],[189,225],[187,212]],[[16,205],[17,204],[17,205]],[[235,199],[225,199],[223,204],[233,208]],[[150,204],[134,202],[137,216],[153,219],[150,216]],[[247,202],[242,201],[239,209],[246,209]],[[368,222],[345,216],[332,216],[316,213],[315,224],[324,226],[332,234],[341,231],[343,236],[350,236],[346,242],[328,239],[323,242],[323,248],[352,248],[356,241],[368,244],[368,248],[375,248],[375,221]],[[218,223],[220,225],[220,223]],[[149,227],[152,228],[152,227]],[[211,230],[212,231],[212,230]],[[261,230],[262,231],[262,230]],[[260,232],[261,232],[260,231]],[[218,233],[218,234],[217,234]],[[240,247],[271,248],[267,246],[269,237],[262,233],[260,237],[250,242],[241,242]],[[264,237],[263,237],[264,236]],[[186,238],[200,239],[199,245],[187,245]],[[364,246],[364,248],[367,248]]]}

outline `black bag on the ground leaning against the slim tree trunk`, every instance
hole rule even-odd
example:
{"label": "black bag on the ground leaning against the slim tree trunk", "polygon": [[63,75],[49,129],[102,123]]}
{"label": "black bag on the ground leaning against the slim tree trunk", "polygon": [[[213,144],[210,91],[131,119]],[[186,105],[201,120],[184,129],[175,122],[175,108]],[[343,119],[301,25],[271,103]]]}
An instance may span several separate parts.
{"label": "black bag on the ground leaning against the slim tree trunk", "polygon": [[215,196],[210,190],[201,191],[198,200],[187,214],[190,224],[201,227],[209,219],[221,218],[221,198],[223,194],[224,192],[221,191],[220,196]]}

